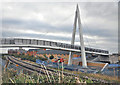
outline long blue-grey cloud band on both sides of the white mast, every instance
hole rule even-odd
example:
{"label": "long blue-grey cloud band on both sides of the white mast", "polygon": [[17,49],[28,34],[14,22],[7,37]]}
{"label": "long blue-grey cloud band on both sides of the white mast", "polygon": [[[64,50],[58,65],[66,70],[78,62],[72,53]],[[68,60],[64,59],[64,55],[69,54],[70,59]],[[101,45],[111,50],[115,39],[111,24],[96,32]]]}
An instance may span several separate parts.
{"label": "long blue-grey cloud band on both sides of the white mast", "polygon": [[[51,26],[47,23],[43,23],[40,21],[22,21],[22,20],[13,20],[13,19],[3,19],[2,21],[3,23],[3,28],[4,29],[8,29],[9,26],[11,27],[11,25],[17,29],[18,27],[20,29],[23,30],[34,30],[34,31],[47,31],[47,32],[68,32],[71,33],[72,32],[72,27],[71,26],[64,26],[64,27],[54,27]],[[12,30],[12,29],[11,29]],[[112,33],[111,30],[106,30],[104,29],[100,29],[100,27],[93,29],[93,28],[84,28],[83,29],[84,34],[87,35],[91,35],[91,36],[100,36],[100,37],[113,37],[114,34],[116,33]]]}

